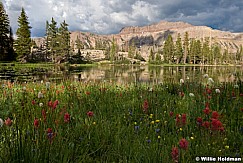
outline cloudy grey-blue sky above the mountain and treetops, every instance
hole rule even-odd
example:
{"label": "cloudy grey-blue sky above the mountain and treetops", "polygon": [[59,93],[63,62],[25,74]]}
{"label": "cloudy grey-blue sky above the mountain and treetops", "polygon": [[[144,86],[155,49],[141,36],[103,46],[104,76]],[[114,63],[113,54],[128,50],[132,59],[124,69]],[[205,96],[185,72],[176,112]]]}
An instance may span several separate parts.
{"label": "cloudy grey-blue sky above the mountain and treetops", "polygon": [[2,0],[15,32],[24,7],[32,37],[45,34],[46,21],[64,20],[70,31],[115,34],[126,26],[184,21],[243,32],[243,0]]}

